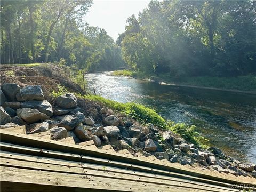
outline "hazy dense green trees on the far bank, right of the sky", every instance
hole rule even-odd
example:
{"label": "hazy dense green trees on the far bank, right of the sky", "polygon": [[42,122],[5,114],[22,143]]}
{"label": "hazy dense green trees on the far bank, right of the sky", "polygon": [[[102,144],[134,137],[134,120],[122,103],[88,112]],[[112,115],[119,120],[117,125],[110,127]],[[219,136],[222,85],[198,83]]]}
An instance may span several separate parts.
{"label": "hazy dense green trees on the far bank, right of the sky", "polygon": [[130,68],[172,76],[256,72],[256,1],[151,1],[119,35]]}

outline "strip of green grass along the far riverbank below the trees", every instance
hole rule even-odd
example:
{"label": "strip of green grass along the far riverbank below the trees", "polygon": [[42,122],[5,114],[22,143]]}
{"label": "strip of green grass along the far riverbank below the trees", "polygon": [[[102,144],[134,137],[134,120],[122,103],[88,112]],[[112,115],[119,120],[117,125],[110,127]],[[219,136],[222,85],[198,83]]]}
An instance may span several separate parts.
{"label": "strip of green grass along the far riverbank below the trees", "polygon": [[170,74],[145,74],[139,71],[121,70],[114,71],[113,75],[132,76],[137,78],[149,78],[166,83],[190,86],[211,87],[225,90],[256,91],[256,76],[237,76],[237,77],[182,77],[174,78]]}

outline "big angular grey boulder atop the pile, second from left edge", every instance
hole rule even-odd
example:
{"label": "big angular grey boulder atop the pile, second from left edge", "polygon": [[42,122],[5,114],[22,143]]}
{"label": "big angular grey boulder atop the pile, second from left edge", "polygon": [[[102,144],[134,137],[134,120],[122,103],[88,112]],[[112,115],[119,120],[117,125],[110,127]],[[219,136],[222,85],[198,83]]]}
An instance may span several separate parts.
{"label": "big angular grey boulder atop the pile, second from left edge", "polygon": [[40,85],[28,85],[17,93],[16,98],[18,101],[43,101],[44,95]]}

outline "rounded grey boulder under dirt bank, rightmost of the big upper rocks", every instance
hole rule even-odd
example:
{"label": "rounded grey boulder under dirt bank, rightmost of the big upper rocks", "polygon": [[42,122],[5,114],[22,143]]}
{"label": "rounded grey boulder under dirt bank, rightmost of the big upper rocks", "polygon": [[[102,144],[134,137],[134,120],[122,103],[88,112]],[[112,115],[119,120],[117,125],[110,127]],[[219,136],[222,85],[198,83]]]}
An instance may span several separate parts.
{"label": "rounded grey boulder under dirt bank, rightmost of the big upper rocks", "polygon": [[56,98],[56,104],[63,109],[70,109],[77,106],[77,98],[73,93],[60,95]]}

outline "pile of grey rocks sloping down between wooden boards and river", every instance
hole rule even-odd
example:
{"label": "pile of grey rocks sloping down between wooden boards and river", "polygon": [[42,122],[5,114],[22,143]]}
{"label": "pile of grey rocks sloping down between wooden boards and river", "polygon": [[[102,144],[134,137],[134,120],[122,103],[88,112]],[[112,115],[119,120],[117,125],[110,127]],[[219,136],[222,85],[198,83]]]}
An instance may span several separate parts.
{"label": "pile of grey rocks sloping down between wooden boards and river", "polygon": [[73,93],[60,95],[52,106],[44,100],[39,85],[21,89],[18,84],[5,83],[0,96],[0,129],[26,125],[27,134],[49,130],[54,140],[65,137],[73,137],[75,143],[93,140],[97,147],[110,144],[116,150],[140,151],[171,163],[199,165],[234,175],[256,175],[256,165],[241,163],[222,154],[217,147],[199,149],[171,131],[160,130],[151,123],[142,126],[129,117],[114,115],[110,109],[97,109],[102,121],[96,122],[92,116],[84,115]]}

